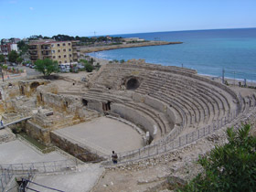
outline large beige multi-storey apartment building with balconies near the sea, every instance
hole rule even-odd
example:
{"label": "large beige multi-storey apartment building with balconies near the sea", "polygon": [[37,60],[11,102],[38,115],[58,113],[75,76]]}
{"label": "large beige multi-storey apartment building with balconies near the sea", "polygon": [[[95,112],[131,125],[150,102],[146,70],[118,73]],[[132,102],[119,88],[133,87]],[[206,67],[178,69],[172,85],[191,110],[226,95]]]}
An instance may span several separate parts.
{"label": "large beige multi-storey apartment building with balconies near the sea", "polygon": [[59,64],[75,64],[78,61],[78,41],[33,41],[29,43],[30,59],[34,63],[37,59],[57,60]]}

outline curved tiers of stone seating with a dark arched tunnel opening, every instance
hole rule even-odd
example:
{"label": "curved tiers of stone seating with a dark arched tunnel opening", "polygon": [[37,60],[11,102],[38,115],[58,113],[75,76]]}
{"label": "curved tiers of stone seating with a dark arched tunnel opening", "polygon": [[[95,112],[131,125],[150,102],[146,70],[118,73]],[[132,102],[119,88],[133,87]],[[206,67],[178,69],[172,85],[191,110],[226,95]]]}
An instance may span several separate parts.
{"label": "curved tiers of stone seating with a dark arched tunnel opening", "polygon": [[[89,107],[102,112],[105,110],[101,109],[101,102],[111,102],[111,112],[134,123],[144,123],[144,130],[157,139],[175,125],[199,128],[240,109],[235,92],[197,76],[195,70],[146,64],[144,60],[108,64],[88,85],[91,90],[85,93],[84,100],[89,101]],[[130,111],[137,115],[129,116]],[[145,125],[152,120],[155,123],[148,124],[155,128]]]}

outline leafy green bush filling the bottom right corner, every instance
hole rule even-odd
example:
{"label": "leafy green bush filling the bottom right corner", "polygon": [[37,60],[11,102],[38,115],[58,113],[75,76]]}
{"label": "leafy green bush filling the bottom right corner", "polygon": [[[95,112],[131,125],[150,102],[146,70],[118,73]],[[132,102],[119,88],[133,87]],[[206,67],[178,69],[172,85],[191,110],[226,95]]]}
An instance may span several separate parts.
{"label": "leafy green bush filling the bottom right corner", "polygon": [[250,129],[249,124],[238,132],[229,128],[229,143],[200,157],[204,172],[177,191],[256,191],[256,137],[249,135]]}

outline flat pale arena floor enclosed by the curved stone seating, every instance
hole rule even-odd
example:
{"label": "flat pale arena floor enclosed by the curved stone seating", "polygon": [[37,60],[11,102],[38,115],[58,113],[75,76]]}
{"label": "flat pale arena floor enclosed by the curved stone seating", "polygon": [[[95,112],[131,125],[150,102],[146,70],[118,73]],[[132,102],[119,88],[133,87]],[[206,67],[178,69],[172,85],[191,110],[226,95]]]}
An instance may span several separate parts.
{"label": "flat pale arena floor enclosed by the curved stone seating", "polygon": [[131,126],[107,117],[59,129],[54,133],[67,135],[105,155],[110,155],[112,150],[117,153],[135,150],[144,143],[142,136]]}

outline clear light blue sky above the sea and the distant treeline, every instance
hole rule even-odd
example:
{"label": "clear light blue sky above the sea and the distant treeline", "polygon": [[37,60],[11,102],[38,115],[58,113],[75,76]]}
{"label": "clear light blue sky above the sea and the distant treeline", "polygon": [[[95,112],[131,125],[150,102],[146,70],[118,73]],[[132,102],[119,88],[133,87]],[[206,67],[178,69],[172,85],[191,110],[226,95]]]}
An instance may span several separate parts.
{"label": "clear light blue sky above the sea and the distant treeline", "polygon": [[0,0],[0,39],[256,27],[255,10],[256,0]]}

